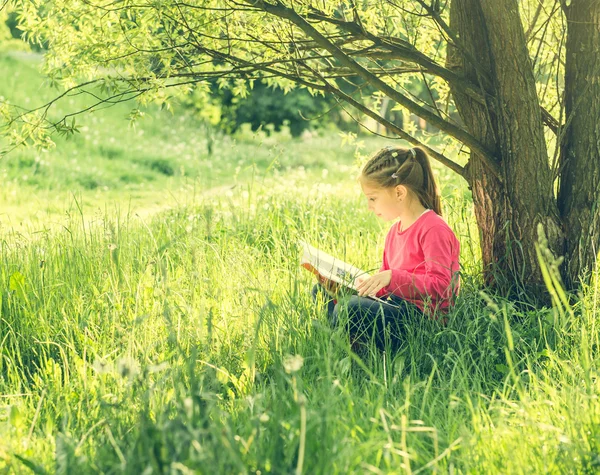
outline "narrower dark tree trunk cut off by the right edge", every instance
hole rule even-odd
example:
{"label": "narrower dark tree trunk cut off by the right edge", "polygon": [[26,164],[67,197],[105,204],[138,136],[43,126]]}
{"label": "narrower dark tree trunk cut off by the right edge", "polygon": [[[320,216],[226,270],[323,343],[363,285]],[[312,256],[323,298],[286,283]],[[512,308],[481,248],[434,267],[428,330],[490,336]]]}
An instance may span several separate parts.
{"label": "narrower dark tree trunk cut off by the right edge", "polygon": [[572,0],[565,14],[567,129],[558,206],[567,237],[563,277],[575,288],[600,251],[600,2]]}

